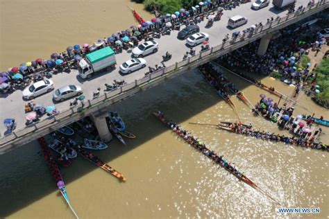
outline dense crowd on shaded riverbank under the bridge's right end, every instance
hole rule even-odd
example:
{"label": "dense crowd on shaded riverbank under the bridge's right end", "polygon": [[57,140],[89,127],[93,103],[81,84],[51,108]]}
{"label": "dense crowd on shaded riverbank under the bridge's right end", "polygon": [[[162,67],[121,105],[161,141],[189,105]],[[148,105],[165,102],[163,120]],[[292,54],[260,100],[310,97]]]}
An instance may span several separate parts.
{"label": "dense crowd on shaded riverbank under the bridge's right end", "polygon": [[[319,26],[325,25],[328,21],[325,12],[319,13],[316,18],[321,18],[317,21]],[[305,69],[297,68],[296,64],[300,62],[301,56],[307,55],[310,49],[316,50],[322,44],[326,44],[326,39],[319,39],[315,34],[317,30],[319,28],[294,24],[280,30],[281,37],[271,40],[267,53],[264,55],[257,55],[259,42],[252,42],[232,53],[221,56],[216,62],[225,67],[245,69],[267,75],[277,71],[285,79],[299,82],[307,77],[312,77],[308,69],[310,64],[307,64]]]}

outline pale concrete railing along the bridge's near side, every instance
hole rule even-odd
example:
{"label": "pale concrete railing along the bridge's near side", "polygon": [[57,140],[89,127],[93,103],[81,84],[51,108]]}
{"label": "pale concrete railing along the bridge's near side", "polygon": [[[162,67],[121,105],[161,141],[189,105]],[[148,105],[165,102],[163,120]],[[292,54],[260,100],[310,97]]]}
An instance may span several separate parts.
{"label": "pale concrete railing along the bridge's near side", "polygon": [[6,135],[5,137],[2,137],[0,139],[0,146],[2,146],[5,143],[8,143],[10,141],[13,141],[19,137],[24,137],[25,135],[35,132],[37,130],[40,130],[42,128],[49,127],[49,124],[55,123],[56,121],[60,121],[62,119],[67,119],[69,116],[75,114],[76,112],[82,112],[87,109],[90,109],[91,107],[97,107],[99,104],[104,103],[106,100],[112,100],[112,103],[115,103],[117,100],[120,100],[124,98],[125,96],[128,96],[126,94],[127,91],[130,91],[131,89],[135,89],[135,87],[142,87],[145,83],[150,82],[151,80],[156,80],[157,78],[162,77],[163,75],[174,73],[175,69],[179,69],[181,67],[185,67],[187,64],[191,64],[194,62],[198,62],[199,60],[209,56],[209,55],[215,55],[215,53],[219,53],[220,51],[229,49],[229,51],[233,51],[234,49],[237,49],[239,46],[239,42],[244,42],[248,39],[257,39],[257,35],[264,35],[264,33],[267,33],[268,30],[270,30],[273,27],[280,26],[283,23],[286,23],[292,19],[298,20],[298,17],[301,15],[312,15],[312,12],[316,12],[319,8],[328,8],[329,6],[329,0],[322,0],[318,3],[314,3],[311,6],[307,6],[303,8],[301,11],[296,11],[294,13],[291,13],[285,17],[281,17],[280,19],[277,19],[269,24],[264,24],[263,26],[256,28],[253,32],[246,34],[245,36],[239,36],[235,40],[230,40],[230,42],[223,42],[222,44],[219,44],[217,46],[212,47],[208,51],[202,51],[201,53],[198,53],[192,57],[189,57],[185,60],[182,60],[180,62],[176,62],[176,64],[173,64],[169,67],[165,67],[164,69],[160,69],[158,71],[155,71],[149,76],[145,76],[144,78],[140,78],[139,80],[135,80],[134,82],[128,83],[124,87],[120,87],[120,89],[115,89],[114,91],[106,92],[105,94],[99,96],[98,98],[94,98],[92,100],[85,100],[83,103],[80,103],[76,107],[71,107],[65,111],[62,111],[56,115],[49,116],[42,121],[39,121],[37,123],[33,123],[32,125],[28,125],[25,128],[15,130],[14,132]]}

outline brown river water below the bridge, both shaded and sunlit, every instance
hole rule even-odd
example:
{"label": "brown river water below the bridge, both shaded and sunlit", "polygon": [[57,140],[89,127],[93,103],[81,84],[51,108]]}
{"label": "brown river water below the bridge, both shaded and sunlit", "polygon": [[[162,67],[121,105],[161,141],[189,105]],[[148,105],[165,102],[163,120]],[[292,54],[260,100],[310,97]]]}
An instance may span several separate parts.
{"label": "brown river water below the bridge, both shaded and sunlit", "polygon": [[[228,75],[256,103],[264,92]],[[264,78],[285,94],[292,87]],[[267,94],[269,96],[269,94]],[[272,96],[274,100],[278,98]],[[319,116],[323,109],[301,96]],[[233,97],[237,113],[256,128],[278,131],[273,123],[254,116]],[[236,121],[237,115],[196,71],[153,87],[112,107],[120,112],[127,130],[137,139],[123,146],[116,139],[95,152],[127,178],[126,183],[78,157],[62,169],[67,191],[81,218],[227,218],[282,217],[278,204],[239,182],[223,168],[183,143],[151,113],[160,109],[168,119],[183,125],[219,155],[230,159],[282,207],[319,207],[328,216],[328,152],[286,146],[244,137],[189,122]],[[297,113],[305,109],[296,106]],[[323,133],[328,134],[328,128]],[[328,135],[321,139],[328,142]],[[36,142],[1,155],[1,216],[9,218],[72,218],[56,195]],[[296,216],[294,216],[296,217]],[[306,216],[305,217],[309,217]]]}

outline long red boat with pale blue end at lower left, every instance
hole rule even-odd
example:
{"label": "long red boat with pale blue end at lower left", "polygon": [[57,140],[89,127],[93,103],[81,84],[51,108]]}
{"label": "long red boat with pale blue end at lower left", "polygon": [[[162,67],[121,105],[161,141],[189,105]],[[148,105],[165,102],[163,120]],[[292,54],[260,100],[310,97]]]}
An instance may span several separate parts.
{"label": "long red boat with pale blue end at lower left", "polygon": [[76,211],[74,211],[73,207],[71,206],[71,203],[69,202],[69,195],[67,195],[64,180],[56,164],[55,157],[53,157],[53,155],[51,154],[51,150],[47,147],[46,140],[44,139],[44,137],[41,137],[37,139],[37,141],[40,144],[41,150],[44,154],[44,159],[47,161],[48,166],[51,169],[51,174],[53,175],[53,178],[56,181],[56,184],[58,186],[58,189],[60,190],[60,193],[62,194],[62,197],[65,199],[65,202],[67,202],[67,205],[71,209],[72,213],[74,213],[74,216],[78,218]]}

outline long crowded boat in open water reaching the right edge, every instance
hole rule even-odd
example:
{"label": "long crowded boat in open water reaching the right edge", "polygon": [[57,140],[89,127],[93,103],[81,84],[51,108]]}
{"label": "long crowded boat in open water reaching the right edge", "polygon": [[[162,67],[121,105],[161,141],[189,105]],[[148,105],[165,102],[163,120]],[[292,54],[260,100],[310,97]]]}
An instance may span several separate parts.
{"label": "long crowded boat in open water reaching the right edge", "polygon": [[269,134],[268,132],[260,132],[260,131],[255,131],[251,130],[251,128],[248,128],[246,126],[236,128],[237,125],[233,125],[234,123],[219,123],[217,125],[217,128],[222,129],[222,130],[227,130],[229,132],[233,132],[235,134],[244,134],[249,137],[255,137],[256,139],[263,139],[263,140],[268,140],[268,141],[274,141],[274,142],[281,142],[281,143],[286,143],[289,145],[295,145],[295,146],[301,146],[301,147],[307,147],[307,148],[312,148],[312,149],[317,149],[317,150],[329,150],[329,147],[326,146],[324,143],[312,143],[311,141],[307,141],[303,139],[302,141],[298,141],[298,139],[295,139],[293,137],[280,137],[278,138],[278,135],[276,135],[275,138],[273,138],[273,134]]}

